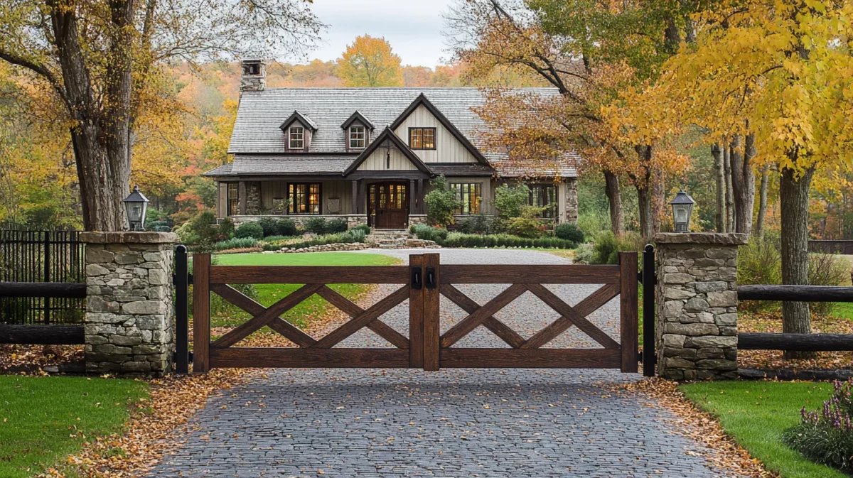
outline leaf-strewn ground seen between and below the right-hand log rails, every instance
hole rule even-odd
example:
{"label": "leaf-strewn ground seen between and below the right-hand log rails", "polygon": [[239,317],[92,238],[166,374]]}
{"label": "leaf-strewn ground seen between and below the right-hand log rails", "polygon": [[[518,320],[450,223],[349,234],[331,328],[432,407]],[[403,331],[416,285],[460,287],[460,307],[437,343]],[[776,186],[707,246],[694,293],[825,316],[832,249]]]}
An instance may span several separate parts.
{"label": "leaf-strewn ground seen between and below the right-hand log rails", "polygon": [[[782,314],[741,314],[738,331],[781,332]],[[815,314],[811,319],[811,331],[853,334],[853,320]],[[738,366],[775,370],[853,370],[853,352],[819,352],[815,359],[785,360],[781,350],[738,350]]]}

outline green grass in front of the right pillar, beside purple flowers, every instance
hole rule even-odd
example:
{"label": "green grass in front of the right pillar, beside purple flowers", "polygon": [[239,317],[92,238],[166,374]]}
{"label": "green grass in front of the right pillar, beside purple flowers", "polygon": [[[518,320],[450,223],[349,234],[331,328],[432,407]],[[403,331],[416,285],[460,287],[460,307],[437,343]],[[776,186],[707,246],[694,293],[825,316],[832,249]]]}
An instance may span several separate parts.
{"label": "green grass in front of the right pillar, beside purple flowers", "polygon": [[815,410],[832,393],[831,383],[704,382],[679,389],[697,406],[719,419],[722,428],[785,478],[843,478],[841,472],[809,462],[781,441],[800,422],[800,409]]}

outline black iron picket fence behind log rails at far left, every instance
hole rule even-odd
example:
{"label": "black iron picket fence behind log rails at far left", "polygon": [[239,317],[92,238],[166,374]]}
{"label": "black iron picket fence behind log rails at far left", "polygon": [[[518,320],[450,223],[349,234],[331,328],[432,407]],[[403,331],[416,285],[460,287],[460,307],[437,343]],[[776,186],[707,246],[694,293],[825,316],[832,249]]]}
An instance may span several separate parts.
{"label": "black iron picket fence behind log rails at far left", "polygon": [[[0,282],[84,284],[78,231],[0,229]],[[82,297],[2,297],[0,324],[77,324]]]}

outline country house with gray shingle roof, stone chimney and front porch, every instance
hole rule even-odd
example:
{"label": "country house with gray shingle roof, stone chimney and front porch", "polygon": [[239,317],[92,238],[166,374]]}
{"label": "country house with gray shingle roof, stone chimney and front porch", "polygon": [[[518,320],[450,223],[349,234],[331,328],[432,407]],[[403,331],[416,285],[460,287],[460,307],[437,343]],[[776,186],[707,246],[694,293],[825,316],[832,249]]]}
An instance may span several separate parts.
{"label": "country house with gray shingle roof, stone chimney and front porch", "polygon": [[266,88],[263,61],[242,67],[234,161],[205,174],[218,183],[220,218],[335,216],[400,229],[425,220],[430,180],[445,176],[459,216],[495,214],[495,188],[522,181],[543,216],[577,220],[577,156],[521,161],[478,147],[479,89]]}

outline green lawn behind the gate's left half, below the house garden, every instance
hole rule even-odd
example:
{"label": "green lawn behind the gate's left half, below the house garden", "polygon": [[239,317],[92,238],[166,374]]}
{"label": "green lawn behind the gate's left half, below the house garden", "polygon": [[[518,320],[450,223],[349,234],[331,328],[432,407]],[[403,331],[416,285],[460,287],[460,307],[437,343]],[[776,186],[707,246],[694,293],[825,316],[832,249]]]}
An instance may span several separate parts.
{"label": "green lawn behind the gate's left half, below the house garden", "polygon": [[[223,254],[216,256],[216,262],[221,266],[387,266],[399,263],[392,256],[381,254],[363,254],[356,252],[307,252],[299,254]],[[287,297],[299,289],[301,284],[258,284],[254,285],[258,292],[256,300],[269,307],[273,303]],[[329,285],[344,297],[358,297],[368,291],[370,285],[335,284]],[[213,297],[216,297],[213,295]],[[213,308],[218,307],[218,298],[214,298]],[[318,296],[311,296],[298,306],[287,311],[283,317],[300,327],[307,325],[310,318],[322,314],[328,307],[328,302]],[[212,314],[211,322],[214,327],[233,327],[250,319],[246,314],[235,308],[226,308],[224,312]],[[261,331],[271,332],[264,327]]]}

